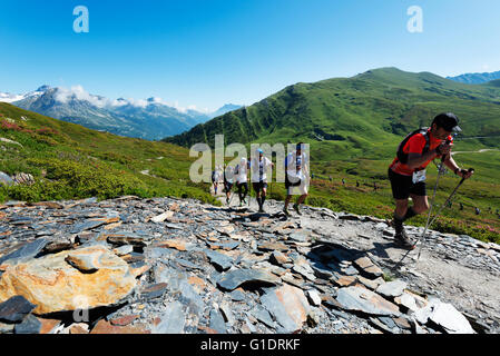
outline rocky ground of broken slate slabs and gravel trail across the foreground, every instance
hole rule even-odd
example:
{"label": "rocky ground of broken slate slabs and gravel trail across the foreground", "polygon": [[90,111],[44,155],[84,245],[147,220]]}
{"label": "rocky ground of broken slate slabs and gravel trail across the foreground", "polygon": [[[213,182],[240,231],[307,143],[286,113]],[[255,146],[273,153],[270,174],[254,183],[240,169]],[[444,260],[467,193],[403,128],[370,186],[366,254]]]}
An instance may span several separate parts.
{"label": "rocky ground of broken slate slabs and gravel trail across the foreground", "polygon": [[431,231],[394,268],[406,251],[384,220],[282,209],[0,205],[0,333],[500,332],[498,245]]}

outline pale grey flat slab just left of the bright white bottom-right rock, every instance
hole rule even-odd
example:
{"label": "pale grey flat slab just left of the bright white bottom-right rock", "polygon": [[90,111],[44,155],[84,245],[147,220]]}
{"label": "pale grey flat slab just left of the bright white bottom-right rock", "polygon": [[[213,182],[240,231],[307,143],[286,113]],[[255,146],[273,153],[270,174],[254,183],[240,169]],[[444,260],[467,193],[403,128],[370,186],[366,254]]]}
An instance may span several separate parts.
{"label": "pale grey flat slab just left of the bright white bottom-right rock", "polygon": [[376,293],[362,287],[339,289],[336,300],[345,310],[362,312],[369,315],[400,316],[399,307]]}

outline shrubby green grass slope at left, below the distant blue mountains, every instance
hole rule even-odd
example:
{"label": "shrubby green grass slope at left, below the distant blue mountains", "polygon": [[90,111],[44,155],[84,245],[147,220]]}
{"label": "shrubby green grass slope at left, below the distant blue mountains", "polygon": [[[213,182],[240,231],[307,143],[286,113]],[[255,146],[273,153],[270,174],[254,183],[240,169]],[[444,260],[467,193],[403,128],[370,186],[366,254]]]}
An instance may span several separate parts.
{"label": "shrubby green grass slope at left, below the distant blue mountains", "polygon": [[[0,102],[0,171],[31,174],[32,186],[0,185],[0,201],[122,195],[194,197],[217,204],[192,184],[188,150],[94,131]],[[161,158],[163,157],[163,158]],[[149,170],[149,176],[141,171]],[[155,176],[155,177],[153,177]]]}

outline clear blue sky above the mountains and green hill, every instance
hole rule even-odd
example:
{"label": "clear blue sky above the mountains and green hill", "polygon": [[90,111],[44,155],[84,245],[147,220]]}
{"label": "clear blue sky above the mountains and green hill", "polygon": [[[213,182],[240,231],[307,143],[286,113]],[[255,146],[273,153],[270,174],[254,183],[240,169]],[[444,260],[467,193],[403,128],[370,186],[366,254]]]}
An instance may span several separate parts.
{"label": "clear blue sky above the mountains and green hill", "polygon": [[[77,6],[88,33],[73,31]],[[499,14],[498,0],[0,0],[0,91],[82,86],[215,110],[380,67],[497,71]]]}

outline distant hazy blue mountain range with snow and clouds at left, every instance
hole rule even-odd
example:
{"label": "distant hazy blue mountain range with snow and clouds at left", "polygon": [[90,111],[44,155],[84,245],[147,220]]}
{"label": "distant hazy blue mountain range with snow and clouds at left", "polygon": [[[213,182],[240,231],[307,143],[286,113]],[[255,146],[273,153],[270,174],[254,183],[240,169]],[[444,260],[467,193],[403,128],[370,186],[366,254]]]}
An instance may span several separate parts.
{"label": "distant hazy blue mountain range with snow and clouds at left", "polygon": [[[0,101],[94,130],[147,140],[178,135],[214,117],[210,112],[170,107],[159,98],[110,100],[81,87],[42,86],[24,95],[0,93]],[[217,115],[232,108],[226,107]]]}

